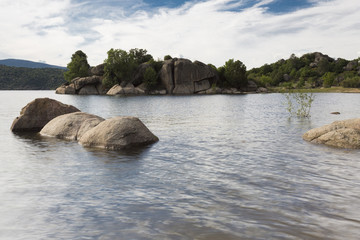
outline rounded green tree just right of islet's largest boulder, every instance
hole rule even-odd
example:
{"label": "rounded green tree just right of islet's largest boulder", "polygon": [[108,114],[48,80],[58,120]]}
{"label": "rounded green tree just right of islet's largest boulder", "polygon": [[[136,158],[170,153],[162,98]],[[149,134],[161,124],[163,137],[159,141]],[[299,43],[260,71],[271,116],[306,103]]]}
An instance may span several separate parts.
{"label": "rounded green tree just right of islet's largest boulder", "polygon": [[229,59],[224,65],[224,77],[231,87],[247,85],[246,66],[239,60]]}

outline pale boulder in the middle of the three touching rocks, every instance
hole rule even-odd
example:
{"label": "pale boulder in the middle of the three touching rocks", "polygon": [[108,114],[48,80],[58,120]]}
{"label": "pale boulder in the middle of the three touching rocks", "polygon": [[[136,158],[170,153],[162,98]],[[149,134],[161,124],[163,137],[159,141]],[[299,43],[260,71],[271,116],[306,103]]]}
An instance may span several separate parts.
{"label": "pale boulder in the middle of the three touching rocks", "polygon": [[77,140],[104,120],[101,117],[84,112],[68,113],[52,119],[43,127],[40,134],[60,139]]}

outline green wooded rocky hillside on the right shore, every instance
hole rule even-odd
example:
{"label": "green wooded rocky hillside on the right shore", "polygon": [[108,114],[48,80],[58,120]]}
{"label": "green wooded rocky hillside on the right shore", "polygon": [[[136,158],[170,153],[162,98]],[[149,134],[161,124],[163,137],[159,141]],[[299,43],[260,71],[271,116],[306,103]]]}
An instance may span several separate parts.
{"label": "green wooded rocky hillside on the right shore", "polygon": [[333,59],[322,53],[302,57],[294,54],[273,64],[265,64],[247,72],[248,80],[263,87],[318,88],[360,87],[360,58],[349,61]]}

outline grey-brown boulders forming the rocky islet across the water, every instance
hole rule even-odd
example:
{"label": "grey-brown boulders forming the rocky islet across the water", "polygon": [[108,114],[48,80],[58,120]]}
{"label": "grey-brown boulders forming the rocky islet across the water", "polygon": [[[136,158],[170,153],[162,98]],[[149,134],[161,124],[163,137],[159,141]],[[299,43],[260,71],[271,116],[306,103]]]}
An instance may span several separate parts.
{"label": "grey-brown boulders forming the rocky islet across the water", "polygon": [[199,62],[184,58],[174,58],[164,61],[160,72],[160,86],[156,90],[149,90],[144,83],[144,73],[148,63],[141,64],[130,82],[116,84],[110,90],[104,89],[102,79],[104,64],[90,69],[91,77],[75,78],[70,84],[64,84],[56,89],[58,94],[107,94],[107,95],[144,95],[144,94],[240,94],[242,92],[267,92],[259,89],[249,81],[244,89],[221,89],[213,87],[219,76],[215,69]]}

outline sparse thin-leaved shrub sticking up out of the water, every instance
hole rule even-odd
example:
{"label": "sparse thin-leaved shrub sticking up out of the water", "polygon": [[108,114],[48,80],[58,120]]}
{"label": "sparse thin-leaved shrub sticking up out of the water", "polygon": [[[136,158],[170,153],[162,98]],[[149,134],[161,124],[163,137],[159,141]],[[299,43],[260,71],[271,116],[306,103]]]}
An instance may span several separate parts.
{"label": "sparse thin-leaved shrub sticking up out of the water", "polygon": [[284,93],[286,109],[290,116],[309,118],[311,105],[315,99],[312,93],[288,92]]}

